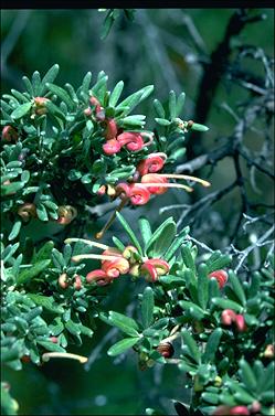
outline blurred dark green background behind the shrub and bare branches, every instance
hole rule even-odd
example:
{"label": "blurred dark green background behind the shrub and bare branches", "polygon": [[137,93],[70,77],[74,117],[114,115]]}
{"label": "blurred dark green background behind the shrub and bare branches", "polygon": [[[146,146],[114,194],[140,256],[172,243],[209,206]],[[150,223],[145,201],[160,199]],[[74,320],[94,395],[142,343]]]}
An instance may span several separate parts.
{"label": "blurred dark green background behind the shrub and bare branches", "polygon": [[[125,82],[125,95],[154,84],[154,98],[166,102],[170,89],[177,94],[184,90],[187,102],[182,119],[189,119],[193,117],[197,98],[201,93],[203,63],[208,62],[222,41],[234,12],[235,9],[137,9],[134,22],[127,21],[121,13],[108,38],[103,41],[99,34],[105,14],[97,10],[2,10],[1,92],[9,93],[11,88],[21,90],[23,75],[30,76],[34,71],[44,74],[50,66],[59,63],[60,85],[68,82],[77,87],[86,72],[91,71],[93,79],[96,79],[97,73],[105,71],[109,76],[110,89],[118,81]],[[253,13],[265,14],[265,20],[245,25],[241,34],[232,36],[232,47],[237,44],[254,45],[272,55],[274,11],[255,9]],[[254,62],[247,60],[246,67],[258,76],[263,75],[262,67]],[[194,157],[210,151],[219,140],[230,137],[235,120],[222,106],[226,103],[235,109],[237,103],[247,98],[245,88],[231,83],[226,77],[220,79],[205,120],[210,130],[197,143],[189,142],[189,154]],[[140,105],[137,113],[146,114],[148,128],[152,127],[152,97]],[[200,119],[195,121],[201,122]],[[246,140],[253,150],[262,146],[256,132],[251,131]],[[184,161],[186,159],[180,162]],[[243,169],[246,167],[243,166]],[[202,169],[200,177],[208,173],[209,168]],[[211,191],[231,183],[233,175],[232,161],[224,158],[216,164],[214,175],[211,177]],[[269,178],[260,174],[257,188],[261,193],[257,198],[271,204],[274,196]],[[207,192],[209,190],[198,190],[194,198],[205,195]],[[253,195],[253,190],[248,192]],[[159,214],[160,207],[188,201],[184,193],[171,190],[142,209],[125,210],[124,213],[134,225],[142,213],[157,226],[167,216],[174,215],[177,220],[180,215],[180,210]],[[191,234],[212,248],[225,247],[229,244],[231,218],[239,204],[240,193],[235,190],[205,214],[209,227],[193,227]],[[99,218],[94,228],[99,228],[105,220],[105,216]],[[35,235],[46,235],[49,230],[40,227],[32,232]],[[112,226],[106,241],[113,233],[120,235],[117,224]],[[139,290],[140,287],[121,278],[114,284],[106,308],[124,312]],[[95,351],[95,360],[88,371],[71,361],[50,362],[41,369],[24,364],[24,371],[18,373],[6,370],[4,378],[11,383],[11,393],[20,404],[19,413],[136,415],[144,414],[146,407],[174,413],[170,399],[187,398],[182,375],[168,365],[138,371],[136,356],[131,353],[118,356],[115,361],[108,358],[106,350],[117,339],[116,334],[97,353],[96,348],[102,345],[108,330],[99,323],[96,335],[83,345],[82,351],[77,350],[86,355]]]}

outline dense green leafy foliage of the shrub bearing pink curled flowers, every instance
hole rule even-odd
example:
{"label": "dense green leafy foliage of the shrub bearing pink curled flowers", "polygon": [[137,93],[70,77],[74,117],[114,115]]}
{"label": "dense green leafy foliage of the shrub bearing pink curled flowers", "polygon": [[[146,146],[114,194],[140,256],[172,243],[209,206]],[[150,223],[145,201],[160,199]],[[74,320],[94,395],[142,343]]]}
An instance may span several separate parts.
{"label": "dense green leafy foliage of the shrub bearing pink curled flowers", "polygon": [[[105,34],[117,17],[116,9],[110,10]],[[211,414],[220,405],[251,409],[256,401],[263,413],[271,413],[274,265],[269,258],[266,267],[245,281],[233,270],[225,273],[232,262],[229,255],[216,250],[201,259],[189,238],[190,228],[177,230],[172,217],[155,231],[140,217],[136,233],[119,213],[128,200],[116,194],[116,186],[130,188],[140,174],[140,162],[161,152],[168,166],[173,164],[184,153],[184,134],[207,131],[207,127],[179,118],[184,94],[177,97],[170,92],[167,108],[154,102],[158,117],[155,135],[147,131],[150,143],[108,154],[104,145],[117,140],[118,134],[134,132],[140,139],[146,117],[130,113],[154,86],[120,100],[124,83],[108,90],[104,72],[93,85],[87,73],[78,88],[55,84],[57,72],[59,65],[53,65],[44,77],[39,72],[31,79],[24,77],[27,90],[12,89],[2,100],[3,365],[22,370],[25,360],[41,365],[50,356],[70,358],[71,348],[93,337],[101,319],[124,337],[112,342],[108,355],[131,350],[140,370],[156,363],[174,364],[184,373],[192,399],[187,406],[177,402],[179,414]],[[109,138],[112,122],[116,131]],[[82,238],[91,221],[91,205],[99,203],[102,189],[123,200],[113,215],[124,231],[121,239],[113,236],[116,248]],[[33,222],[53,226],[52,239],[25,237]],[[75,237],[67,237],[68,233]],[[104,253],[91,255],[87,247]],[[229,275],[222,282],[211,276],[221,270]],[[147,281],[138,294],[139,309],[131,317],[106,306],[110,284],[121,279],[120,275],[131,278],[138,289],[140,279]],[[229,310],[230,322],[225,319]],[[178,350],[173,359],[172,344]],[[74,356],[83,362],[82,356]],[[15,414],[17,404],[7,386],[2,388],[4,413]],[[147,414],[154,412],[147,409]]]}

